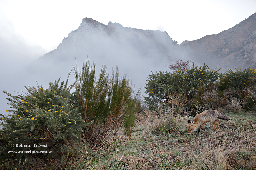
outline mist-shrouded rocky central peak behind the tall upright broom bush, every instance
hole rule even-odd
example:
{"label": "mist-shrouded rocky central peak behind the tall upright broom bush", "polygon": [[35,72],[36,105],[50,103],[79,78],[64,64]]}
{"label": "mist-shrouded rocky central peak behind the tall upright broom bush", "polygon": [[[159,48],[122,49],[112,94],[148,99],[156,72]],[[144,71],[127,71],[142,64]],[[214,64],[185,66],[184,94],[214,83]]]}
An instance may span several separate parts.
{"label": "mist-shrouded rocky central peak behind the tall upright broom bush", "polygon": [[81,68],[87,58],[96,64],[96,76],[103,64],[110,74],[118,67],[120,76],[126,74],[135,90],[141,87],[144,93],[148,74],[168,70],[170,59],[182,58],[182,49],[165,31],[127,28],[111,22],[105,25],[84,18],[57,49],[34,61],[29,69],[35,70],[34,74],[44,70],[47,78],[58,79],[56,75],[67,76],[73,66]]}

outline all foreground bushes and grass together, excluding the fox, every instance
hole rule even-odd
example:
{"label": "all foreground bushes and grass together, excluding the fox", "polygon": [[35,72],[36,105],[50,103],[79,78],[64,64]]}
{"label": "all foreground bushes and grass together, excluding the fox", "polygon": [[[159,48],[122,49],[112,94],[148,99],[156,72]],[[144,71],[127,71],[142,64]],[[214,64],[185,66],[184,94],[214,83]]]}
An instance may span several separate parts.
{"label": "all foreground bushes and grass together, excluding the fox", "polygon": [[[59,79],[18,96],[4,91],[12,110],[0,115],[0,168],[256,168],[256,70],[221,74],[183,60],[169,69],[149,75],[145,103],[118,69],[103,66],[96,78],[88,60],[70,86]],[[206,109],[232,119],[188,135],[189,117]]]}

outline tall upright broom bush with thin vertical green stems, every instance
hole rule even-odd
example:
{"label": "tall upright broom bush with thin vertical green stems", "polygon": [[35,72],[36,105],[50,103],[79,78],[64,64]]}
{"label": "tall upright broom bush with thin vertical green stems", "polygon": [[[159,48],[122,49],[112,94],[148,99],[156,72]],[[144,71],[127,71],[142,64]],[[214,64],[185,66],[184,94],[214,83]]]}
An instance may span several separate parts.
{"label": "tall upright broom bush with thin vertical green stems", "polygon": [[[98,145],[115,138],[123,119],[130,123],[134,121],[132,114],[137,100],[132,99],[133,89],[129,79],[126,76],[119,79],[118,69],[109,77],[106,66],[103,66],[96,80],[95,64],[90,66],[88,60],[83,64],[81,72],[76,67],[74,73],[77,103],[82,118],[85,122],[95,122],[86,131],[86,139],[91,144]],[[123,116],[125,112],[127,114]],[[124,127],[128,128],[126,125]]]}

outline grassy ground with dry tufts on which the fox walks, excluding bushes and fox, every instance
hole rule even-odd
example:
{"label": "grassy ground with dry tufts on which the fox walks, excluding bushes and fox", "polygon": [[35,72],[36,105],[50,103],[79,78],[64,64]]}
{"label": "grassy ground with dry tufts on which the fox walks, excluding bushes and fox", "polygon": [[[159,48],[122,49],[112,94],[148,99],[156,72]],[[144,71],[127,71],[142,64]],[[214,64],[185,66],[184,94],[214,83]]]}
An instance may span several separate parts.
{"label": "grassy ground with dry tufts on which the fox walks, excluding bushes and fox", "polygon": [[[232,114],[213,131],[187,133],[188,117],[176,117],[176,131],[161,131],[164,115],[137,121],[132,137],[124,134],[84,154],[66,169],[244,169],[256,167],[256,115]],[[173,117],[169,115],[168,117]],[[190,120],[192,117],[190,117]]]}

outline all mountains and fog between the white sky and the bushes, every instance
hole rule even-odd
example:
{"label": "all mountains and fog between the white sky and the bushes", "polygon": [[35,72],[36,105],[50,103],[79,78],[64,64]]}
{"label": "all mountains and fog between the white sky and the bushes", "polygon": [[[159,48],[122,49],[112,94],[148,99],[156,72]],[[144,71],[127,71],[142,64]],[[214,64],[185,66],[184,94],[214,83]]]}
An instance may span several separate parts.
{"label": "all mountains and fog between the white sky and the bushes", "polygon": [[[15,91],[26,92],[24,86],[27,85],[38,83],[46,89],[49,82],[60,77],[65,81],[73,67],[77,65],[80,69],[86,59],[96,64],[97,77],[103,64],[110,74],[118,67],[119,75],[126,74],[135,90],[142,88],[142,94],[151,71],[170,71],[170,60],[182,59],[183,54],[183,60],[192,59],[197,66],[206,63],[210,68],[222,67],[222,72],[229,68],[256,68],[256,13],[217,35],[184,41],[180,45],[165,31],[127,28],[111,22],[105,25],[84,18],[55,50],[39,58],[45,53],[43,49],[29,46],[17,35],[6,39],[3,35],[8,30],[0,30],[1,78],[4,80],[0,85],[1,90],[12,95],[18,95]],[[69,82],[74,82],[73,73]],[[7,97],[4,93],[0,95],[2,114],[9,110]]]}

